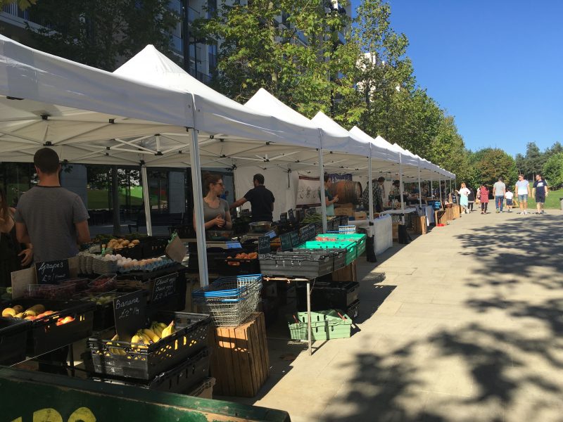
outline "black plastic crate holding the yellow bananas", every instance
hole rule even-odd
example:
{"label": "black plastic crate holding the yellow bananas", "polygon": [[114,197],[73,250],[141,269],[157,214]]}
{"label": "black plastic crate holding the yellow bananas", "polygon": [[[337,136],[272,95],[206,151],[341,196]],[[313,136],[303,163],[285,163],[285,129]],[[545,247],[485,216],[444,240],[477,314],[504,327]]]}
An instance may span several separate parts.
{"label": "black plastic crate holding the yellow bananas", "polygon": [[[208,315],[156,312],[150,319],[165,323],[174,319],[177,331],[146,348],[121,340],[89,338],[93,371],[110,376],[152,380],[207,346],[211,322]],[[113,350],[122,350],[125,354],[118,354]]]}

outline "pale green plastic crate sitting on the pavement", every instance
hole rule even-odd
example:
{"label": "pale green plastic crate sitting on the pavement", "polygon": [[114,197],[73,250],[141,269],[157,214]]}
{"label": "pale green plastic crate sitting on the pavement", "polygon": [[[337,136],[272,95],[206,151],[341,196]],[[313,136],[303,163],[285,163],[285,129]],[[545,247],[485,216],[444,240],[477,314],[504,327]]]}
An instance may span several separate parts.
{"label": "pale green plastic crate sitting on the pavement", "polygon": [[[286,315],[289,335],[292,340],[307,340],[307,312]],[[340,316],[334,309],[311,312],[312,340],[330,340],[331,338],[349,338],[352,320],[346,314]]]}

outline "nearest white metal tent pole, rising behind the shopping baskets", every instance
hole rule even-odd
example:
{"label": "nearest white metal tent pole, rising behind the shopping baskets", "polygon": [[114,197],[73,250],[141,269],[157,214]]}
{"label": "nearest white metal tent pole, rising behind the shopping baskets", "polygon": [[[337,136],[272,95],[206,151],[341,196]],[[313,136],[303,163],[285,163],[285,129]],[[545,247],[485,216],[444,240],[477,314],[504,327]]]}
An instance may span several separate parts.
{"label": "nearest white metal tent pole, rising behind the shopping baskets", "polygon": [[196,220],[199,284],[201,287],[208,286],[207,249],[205,247],[205,222],[203,221],[203,186],[201,184],[201,162],[199,159],[198,134],[195,129],[188,129],[191,133],[190,143],[190,165],[191,185],[194,195],[194,217]]}

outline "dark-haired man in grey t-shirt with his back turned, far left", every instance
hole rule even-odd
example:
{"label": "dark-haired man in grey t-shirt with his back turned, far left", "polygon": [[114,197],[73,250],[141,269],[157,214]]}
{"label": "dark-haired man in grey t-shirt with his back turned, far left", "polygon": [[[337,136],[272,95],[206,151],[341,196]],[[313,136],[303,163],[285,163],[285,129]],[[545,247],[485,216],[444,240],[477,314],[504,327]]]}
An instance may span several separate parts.
{"label": "dark-haired man in grey t-shirt with his back turned, far left", "polygon": [[89,215],[80,196],[61,187],[58,155],[50,148],[35,153],[39,184],[23,194],[15,212],[18,241],[32,243],[34,261],[74,257],[77,243],[90,241]]}

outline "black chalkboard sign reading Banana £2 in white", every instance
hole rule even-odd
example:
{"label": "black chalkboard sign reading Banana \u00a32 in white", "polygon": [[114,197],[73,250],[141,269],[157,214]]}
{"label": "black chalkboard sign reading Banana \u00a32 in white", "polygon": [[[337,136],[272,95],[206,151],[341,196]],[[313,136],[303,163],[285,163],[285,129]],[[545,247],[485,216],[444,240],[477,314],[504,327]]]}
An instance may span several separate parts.
{"label": "black chalkboard sign reading Banana \u00a32 in white", "polygon": [[127,293],[113,300],[115,331],[120,340],[128,341],[146,324],[146,299],[143,290]]}

